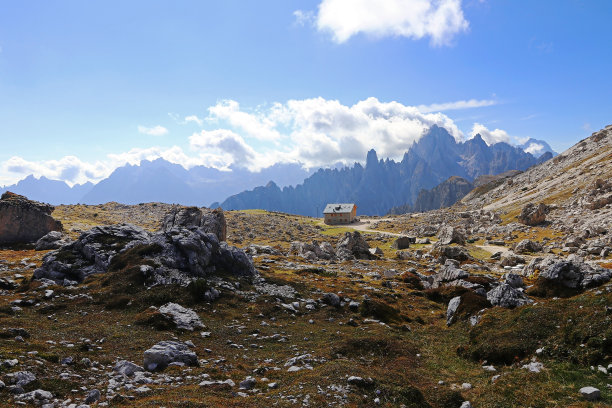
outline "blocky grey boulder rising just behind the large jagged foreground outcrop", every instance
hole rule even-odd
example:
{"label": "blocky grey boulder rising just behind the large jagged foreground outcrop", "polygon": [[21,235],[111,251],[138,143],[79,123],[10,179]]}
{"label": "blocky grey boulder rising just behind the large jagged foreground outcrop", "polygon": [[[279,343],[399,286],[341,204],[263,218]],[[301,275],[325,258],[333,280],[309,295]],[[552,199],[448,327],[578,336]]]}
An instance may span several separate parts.
{"label": "blocky grey boulder rising just behind the large jagged foreground outcrop", "polygon": [[215,234],[220,242],[227,239],[227,223],[221,208],[201,210],[197,207],[175,207],[162,222],[164,232],[185,227],[199,227],[204,232]]}

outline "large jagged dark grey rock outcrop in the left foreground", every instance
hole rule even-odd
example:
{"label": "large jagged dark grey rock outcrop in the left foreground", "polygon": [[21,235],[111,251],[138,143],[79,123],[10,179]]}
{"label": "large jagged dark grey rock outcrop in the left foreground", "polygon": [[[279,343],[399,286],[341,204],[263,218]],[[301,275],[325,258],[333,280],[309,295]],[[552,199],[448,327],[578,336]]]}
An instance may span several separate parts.
{"label": "large jagged dark grey rock outcrop in the left foreground", "polygon": [[[221,217],[215,215],[216,220]],[[157,233],[129,224],[94,227],[75,242],[47,254],[42,266],[34,271],[34,278],[81,282],[94,273],[122,269],[128,262],[135,262],[134,258],[151,286],[188,285],[215,272],[246,278],[256,275],[244,251],[219,242],[217,235],[205,230],[213,225],[213,230],[219,231],[219,223],[189,226],[190,219],[186,216],[179,223],[165,224]]]}

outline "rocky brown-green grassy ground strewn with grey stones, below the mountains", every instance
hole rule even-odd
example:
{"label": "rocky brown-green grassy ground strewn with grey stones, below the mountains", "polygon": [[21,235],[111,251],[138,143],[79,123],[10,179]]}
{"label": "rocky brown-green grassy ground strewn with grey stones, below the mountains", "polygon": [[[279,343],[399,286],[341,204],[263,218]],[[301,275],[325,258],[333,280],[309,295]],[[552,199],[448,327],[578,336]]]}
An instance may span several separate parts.
{"label": "rocky brown-green grassy ground strewn with grey stones, below the mountains", "polygon": [[57,207],[63,232],[0,249],[0,406],[610,406],[612,188],[595,139],[557,163],[586,163],[575,193],[522,199],[516,177],[554,171],[536,167],[360,232]]}

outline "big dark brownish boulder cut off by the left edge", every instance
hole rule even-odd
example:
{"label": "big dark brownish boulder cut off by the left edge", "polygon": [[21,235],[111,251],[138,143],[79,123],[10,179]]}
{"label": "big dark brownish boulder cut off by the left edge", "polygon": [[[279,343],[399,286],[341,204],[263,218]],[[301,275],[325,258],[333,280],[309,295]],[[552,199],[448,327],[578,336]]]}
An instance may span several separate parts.
{"label": "big dark brownish boulder cut off by the left edge", "polygon": [[51,213],[54,207],[5,192],[0,198],[0,245],[36,242],[51,231],[62,231],[62,223]]}

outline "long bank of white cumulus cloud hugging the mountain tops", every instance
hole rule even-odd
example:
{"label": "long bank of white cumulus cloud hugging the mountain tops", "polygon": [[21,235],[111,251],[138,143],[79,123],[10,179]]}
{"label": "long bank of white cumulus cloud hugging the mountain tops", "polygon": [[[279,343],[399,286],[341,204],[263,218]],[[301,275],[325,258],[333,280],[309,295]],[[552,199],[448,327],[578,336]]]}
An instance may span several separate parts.
{"label": "long bank of white cumulus cloud hugging the mountain tops", "polygon": [[[350,165],[364,162],[372,148],[380,157],[398,160],[432,125],[446,128],[457,141],[465,140],[449,116],[429,111],[433,106],[463,109],[485,105],[484,101],[466,100],[424,109],[373,97],[353,105],[319,97],[243,108],[236,101],[226,100],[208,108],[205,117],[175,115],[179,123],[201,124],[203,128],[182,142],[176,140],[181,146],[133,148],[95,162],[74,156],[48,161],[12,157],[0,163],[0,185],[14,183],[29,174],[69,184],[96,182],[117,167],[157,158],[185,168],[204,165],[252,171],[276,163],[300,163],[307,168]],[[488,144],[510,141],[505,131],[489,130],[480,123],[474,124],[470,136],[477,133]]]}

